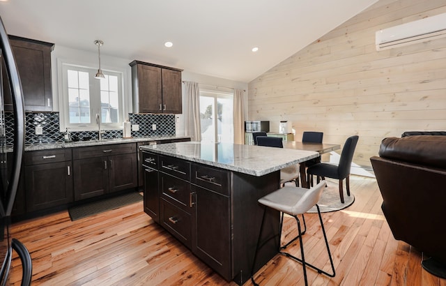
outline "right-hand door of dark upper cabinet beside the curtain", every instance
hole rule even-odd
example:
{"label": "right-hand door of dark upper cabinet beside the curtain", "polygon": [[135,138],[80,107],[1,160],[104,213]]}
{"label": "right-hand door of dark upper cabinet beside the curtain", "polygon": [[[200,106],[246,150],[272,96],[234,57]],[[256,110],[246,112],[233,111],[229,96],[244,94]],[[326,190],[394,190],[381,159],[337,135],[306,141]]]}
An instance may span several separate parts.
{"label": "right-hand door of dark upper cabinet beside the curtain", "polygon": [[181,72],[162,69],[162,112],[182,113]]}

